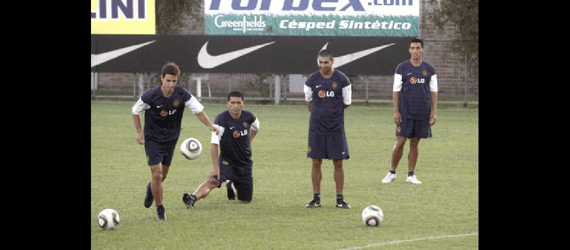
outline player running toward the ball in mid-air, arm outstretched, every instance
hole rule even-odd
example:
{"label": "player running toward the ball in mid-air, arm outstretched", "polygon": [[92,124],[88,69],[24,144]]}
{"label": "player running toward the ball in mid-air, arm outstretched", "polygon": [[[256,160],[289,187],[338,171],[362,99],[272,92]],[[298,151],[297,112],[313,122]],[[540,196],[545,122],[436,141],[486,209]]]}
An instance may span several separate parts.
{"label": "player running toward the ball in mid-air, arm outstretched", "polygon": [[[219,132],[202,111],[204,106],[190,92],[177,85],[179,78],[178,65],[166,63],[160,72],[161,85],[145,91],[132,108],[137,142],[144,145],[152,176],[152,181],[146,183],[144,206],[150,207],[154,199],[157,220],[166,220],[162,204],[162,182],[168,174],[174,147],[180,136],[184,107],[192,110],[198,120],[213,133]],[[139,117],[143,111],[144,131]]]}

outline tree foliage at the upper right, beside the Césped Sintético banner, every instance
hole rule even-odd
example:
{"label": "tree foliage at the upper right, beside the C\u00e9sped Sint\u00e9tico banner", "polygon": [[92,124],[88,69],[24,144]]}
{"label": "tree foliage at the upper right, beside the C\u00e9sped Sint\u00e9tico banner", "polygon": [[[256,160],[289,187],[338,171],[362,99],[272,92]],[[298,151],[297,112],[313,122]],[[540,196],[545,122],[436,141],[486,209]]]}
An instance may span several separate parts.
{"label": "tree foliage at the upper right, beside the C\u00e9sped Sint\u00e9tico banner", "polygon": [[426,13],[427,21],[438,30],[446,24],[455,27],[455,39],[451,42],[453,52],[466,55],[471,72],[479,68],[479,0],[429,0],[431,5],[441,3],[439,9]]}

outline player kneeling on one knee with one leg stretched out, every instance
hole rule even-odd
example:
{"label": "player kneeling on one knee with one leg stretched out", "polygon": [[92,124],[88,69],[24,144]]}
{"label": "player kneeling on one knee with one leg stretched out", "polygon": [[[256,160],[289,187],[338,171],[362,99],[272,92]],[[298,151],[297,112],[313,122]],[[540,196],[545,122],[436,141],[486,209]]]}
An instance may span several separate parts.
{"label": "player kneeling on one knee with one leg stretched out", "polygon": [[[253,175],[251,169],[251,142],[259,130],[259,120],[255,114],[243,110],[243,94],[232,91],[227,95],[227,111],[219,113],[214,126],[219,134],[212,133],[211,157],[213,170],[206,176],[192,195],[182,194],[182,202],[194,208],[197,200],[205,198],[214,187],[227,183],[227,192],[236,192],[239,202],[250,203],[253,196]],[[218,157],[218,145],[220,154]]]}

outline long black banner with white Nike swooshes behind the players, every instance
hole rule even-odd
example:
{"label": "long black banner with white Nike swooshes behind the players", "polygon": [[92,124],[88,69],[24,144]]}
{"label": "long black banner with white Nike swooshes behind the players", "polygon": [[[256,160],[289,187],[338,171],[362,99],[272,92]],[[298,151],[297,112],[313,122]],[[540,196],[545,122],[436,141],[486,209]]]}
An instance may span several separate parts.
{"label": "long black banner with white Nike swooshes behind the players", "polygon": [[[91,35],[92,72],[158,72],[166,62],[192,73],[315,72],[317,54],[350,75],[393,75],[413,37]],[[336,67],[338,64],[338,67]]]}

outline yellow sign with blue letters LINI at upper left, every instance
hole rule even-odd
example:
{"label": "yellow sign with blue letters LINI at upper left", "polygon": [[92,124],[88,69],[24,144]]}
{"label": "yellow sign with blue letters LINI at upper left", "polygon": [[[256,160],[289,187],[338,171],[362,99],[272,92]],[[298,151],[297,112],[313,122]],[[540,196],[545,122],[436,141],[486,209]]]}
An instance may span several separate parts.
{"label": "yellow sign with blue letters LINI at upper left", "polygon": [[154,0],[91,0],[91,34],[156,34]]}

